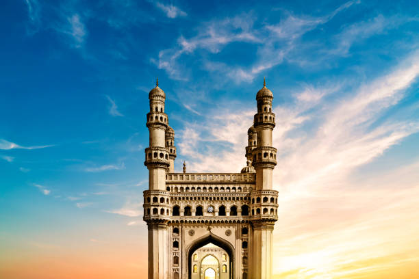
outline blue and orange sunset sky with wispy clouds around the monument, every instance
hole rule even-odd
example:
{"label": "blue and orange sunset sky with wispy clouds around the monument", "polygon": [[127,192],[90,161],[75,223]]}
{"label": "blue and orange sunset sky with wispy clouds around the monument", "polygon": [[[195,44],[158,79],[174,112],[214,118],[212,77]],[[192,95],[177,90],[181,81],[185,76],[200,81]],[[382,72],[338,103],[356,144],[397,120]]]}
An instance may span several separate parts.
{"label": "blue and orange sunset sky with wispy clouds around the monument", "polygon": [[274,278],[419,278],[418,1],[0,9],[0,277],[146,278],[148,92],[180,172],[239,172],[274,94]]}

